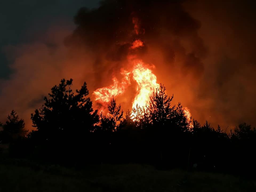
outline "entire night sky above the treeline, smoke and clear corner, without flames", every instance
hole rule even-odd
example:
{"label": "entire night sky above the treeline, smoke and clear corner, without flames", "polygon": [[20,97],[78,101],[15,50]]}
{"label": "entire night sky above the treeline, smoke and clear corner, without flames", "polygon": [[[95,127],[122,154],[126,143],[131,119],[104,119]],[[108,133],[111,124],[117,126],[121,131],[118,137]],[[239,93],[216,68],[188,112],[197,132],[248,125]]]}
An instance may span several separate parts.
{"label": "entire night sky above the treeline, smoke and clear corner, without flames", "polygon": [[[213,126],[255,126],[255,3],[175,1],[167,10],[166,1],[139,2],[97,9],[98,1],[89,0],[1,1],[0,121],[15,109],[30,129],[30,114],[61,78],[73,78],[76,88],[86,81],[90,93],[109,84],[123,66],[120,44],[133,40],[127,31],[134,9],[146,29],[141,57],[152,57],[147,62],[174,104]],[[88,9],[77,14],[81,7]]]}

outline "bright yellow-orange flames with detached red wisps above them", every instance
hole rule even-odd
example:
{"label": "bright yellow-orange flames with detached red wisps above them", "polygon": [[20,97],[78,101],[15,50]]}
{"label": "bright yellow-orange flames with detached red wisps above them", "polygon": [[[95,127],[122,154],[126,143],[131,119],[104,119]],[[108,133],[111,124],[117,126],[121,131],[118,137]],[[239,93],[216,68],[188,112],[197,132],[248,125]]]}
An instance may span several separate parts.
{"label": "bright yellow-orange flames with detached red wisps above them", "polygon": [[[140,23],[138,18],[133,17],[133,24],[134,24],[134,31],[135,34],[144,34],[145,30],[140,30]],[[143,41],[140,39],[136,39],[133,41],[133,43],[130,46],[130,49],[136,50],[138,48],[141,48],[144,46]],[[107,87],[102,87],[99,89],[96,89],[93,92],[93,95],[95,96],[95,101],[101,104],[101,111],[104,111],[107,109],[107,103],[110,102],[111,98],[114,96],[121,95],[125,92],[126,88],[131,84],[130,78],[132,76],[133,80],[137,82],[137,93],[134,98],[134,101],[132,103],[132,108],[136,108],[138,105],[139,107],[143,108],[146,105],[149,105],[150,102],[150,96],[156,91],[156,89],[159,87],[159,84],[157,83],[157,77],[153,73],[152,70],[150,70],[147,65],[141,60],[137,58],[137,55],[134,54],[127,55],[127,60],[131,64],[131,69],[129,71],[121,70],[121,74],[123,75],[123,78],[121,82],[117,80],[116,77],[113,77],[113,84]],[[104,109],[105,106],[105,109]],[[190,128],[193,128],[192,122],[191,122],[191,114],[187,107],[184,108],[185,115],[187,117],[187,122],[190,124]],[[133,114],[132,112],[131,117],[135,117],[136,114]]]}

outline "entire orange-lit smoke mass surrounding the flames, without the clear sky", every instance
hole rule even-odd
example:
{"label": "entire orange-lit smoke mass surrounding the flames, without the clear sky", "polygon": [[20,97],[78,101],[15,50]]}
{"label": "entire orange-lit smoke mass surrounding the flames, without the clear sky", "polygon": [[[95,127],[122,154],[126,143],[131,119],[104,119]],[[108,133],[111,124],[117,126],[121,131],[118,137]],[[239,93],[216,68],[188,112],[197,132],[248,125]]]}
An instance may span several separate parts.
{"label": "entire orange-lit smoke mass surrounding the flames, without the clear sky", "polygon": [[[73,78],[74,88],[86,81],[90,93],[111,85],[113,75],[121,79],[121,68],[130,67],[131,43],[141,39],[145,46],[137,55],[155,66],[158,83],[174,94],[173,104],[182,102],[192,118],[214,126],[254,123],[255,40],[246,30],[249,23],[226,13],[229,6],[120,0],[103,1],[94,10],[81,8],[74,31],[54,28],[43,41],[6,47],[15,72],[1,82],[0,112],[15,109],[30,126],[30,113],[61,78]],[[134,94],[131,86],[117,98],[124,110],[131,108]]]}

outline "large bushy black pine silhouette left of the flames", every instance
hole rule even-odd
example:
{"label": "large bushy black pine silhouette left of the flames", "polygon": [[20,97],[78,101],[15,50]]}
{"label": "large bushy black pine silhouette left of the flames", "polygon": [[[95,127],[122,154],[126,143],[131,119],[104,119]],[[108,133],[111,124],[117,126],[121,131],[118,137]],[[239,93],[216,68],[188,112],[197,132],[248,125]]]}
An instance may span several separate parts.
{"label": "large bushy black pine silhouette left of the flames", "polygon": [[97,110],[93,110],[92,101],[87,97],[86,82],[75,93],[71,89],[72,82],[73,79],[62,79],[58,86],[51,89],[49,98],[45,97],[43,106],[31,114],[33,126],[45,139],[64,135],[75,139],[71,134],[81,137],[93,131],[99,121]]}

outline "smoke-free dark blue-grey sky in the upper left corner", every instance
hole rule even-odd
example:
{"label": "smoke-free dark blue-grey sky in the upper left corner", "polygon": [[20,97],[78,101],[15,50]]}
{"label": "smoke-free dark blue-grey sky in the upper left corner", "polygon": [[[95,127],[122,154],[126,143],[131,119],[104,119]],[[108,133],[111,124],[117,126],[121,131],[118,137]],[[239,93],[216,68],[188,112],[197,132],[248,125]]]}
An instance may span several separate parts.
{"label": "smoke-free dark blue-grey sky in the upper left corner", "polygon": [[98,6],[98,0],[1,0],[0,79],[9,78],[11,72],[3,53],[5,46],[35,41],[38,37],[34,34],[45,33],[51,25],[74,27],[73,17],[79,8]]}

